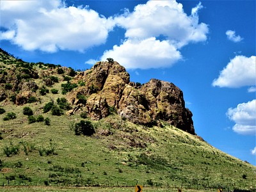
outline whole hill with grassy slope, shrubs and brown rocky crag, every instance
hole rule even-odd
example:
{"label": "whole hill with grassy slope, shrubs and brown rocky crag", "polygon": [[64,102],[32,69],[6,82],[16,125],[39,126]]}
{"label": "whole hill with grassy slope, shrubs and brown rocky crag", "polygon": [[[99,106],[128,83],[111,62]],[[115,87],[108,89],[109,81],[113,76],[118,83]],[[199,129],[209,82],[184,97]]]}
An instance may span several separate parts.
{"label": "whole hill with grassy slope, shrubs and brown rocky crag", "polygon": [[111,59],[77,72],[0,50],[0,68],[0,184],[256,188],[255,166],[196,136],[172,83],[132,83]]}

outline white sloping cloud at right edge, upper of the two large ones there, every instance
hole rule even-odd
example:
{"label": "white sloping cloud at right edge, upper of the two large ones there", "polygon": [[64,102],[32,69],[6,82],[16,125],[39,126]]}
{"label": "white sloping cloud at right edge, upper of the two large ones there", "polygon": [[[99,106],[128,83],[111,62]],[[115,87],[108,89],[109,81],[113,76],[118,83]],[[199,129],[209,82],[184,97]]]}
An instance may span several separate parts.
{"label": "white sloping cloud at right edge, upper of the two large ones there", "polygon": [[238,88],[241,86],[254,86],[256,73],[256,57],[236,56],[214,79],[213,86]]}

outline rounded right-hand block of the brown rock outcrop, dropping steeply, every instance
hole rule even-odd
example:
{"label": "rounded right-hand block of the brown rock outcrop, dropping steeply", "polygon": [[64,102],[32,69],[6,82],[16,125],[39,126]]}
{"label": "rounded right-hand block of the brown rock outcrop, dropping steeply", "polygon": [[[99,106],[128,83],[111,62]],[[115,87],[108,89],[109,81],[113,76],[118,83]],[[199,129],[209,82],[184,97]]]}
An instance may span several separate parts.
{"label": "rounded right-hand block of the brown rock outcrop, dropping steeply", "polygon": [[192,113],[185,108],[183,92],[173,83],[151,79],[141,86],[154,120],[164,120],[184,131],[195,134]]}

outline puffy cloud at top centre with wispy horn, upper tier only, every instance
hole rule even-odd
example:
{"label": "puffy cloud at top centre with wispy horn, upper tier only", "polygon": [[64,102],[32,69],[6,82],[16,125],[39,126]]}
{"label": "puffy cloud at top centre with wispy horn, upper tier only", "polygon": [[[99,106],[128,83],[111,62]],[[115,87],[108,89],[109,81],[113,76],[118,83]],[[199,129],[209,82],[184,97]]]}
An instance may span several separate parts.
{"label": "puffy cloud at top centre with wispy horn, upper tier only", "polygon": [[202,42],[207,39],[208,27],[198,23],[199,3],[190,16],[184,13],[182,4],[176,1],[148,1],[139,4],[134,12],[116,17],[115,21],[127,31],[127,38],[150,38],[166,36],[175,47],[180,48],[189,42]]}

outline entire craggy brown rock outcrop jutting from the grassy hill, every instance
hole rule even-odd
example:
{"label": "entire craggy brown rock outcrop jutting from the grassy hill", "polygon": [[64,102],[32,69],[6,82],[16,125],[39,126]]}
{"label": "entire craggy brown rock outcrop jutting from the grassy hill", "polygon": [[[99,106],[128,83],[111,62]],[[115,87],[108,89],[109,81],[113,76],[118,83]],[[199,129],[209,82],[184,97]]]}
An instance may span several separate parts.
{"label": "entire craggy brown rock outcrop jutting from the grassy hill", "polygon": [[83,82],[67,95],[77,103],[77,94],[86,95],[86,110],[93,120],[109,115],[109,107],[127,120],[142,125],[161,125],[159,120],[195,134],[192,113],[185,108],[182,91],[173,83],[151,79],[138,87],[129,81],[129,74],[117,62],[97,62],[74,79]]}

